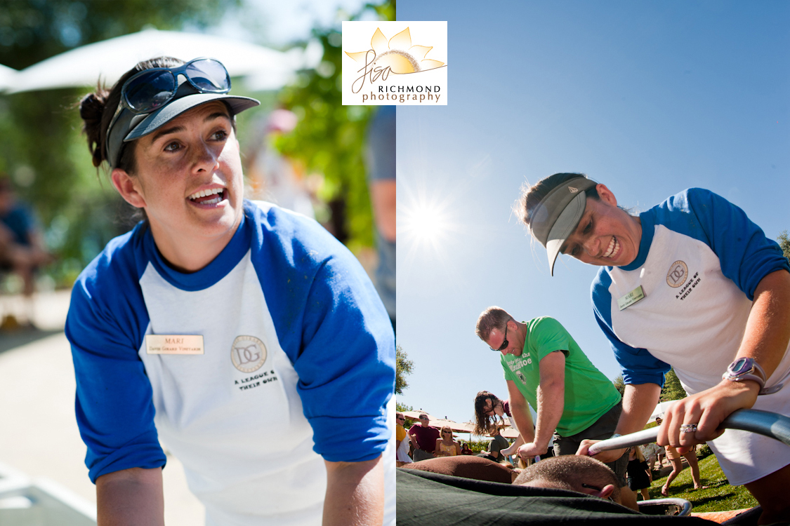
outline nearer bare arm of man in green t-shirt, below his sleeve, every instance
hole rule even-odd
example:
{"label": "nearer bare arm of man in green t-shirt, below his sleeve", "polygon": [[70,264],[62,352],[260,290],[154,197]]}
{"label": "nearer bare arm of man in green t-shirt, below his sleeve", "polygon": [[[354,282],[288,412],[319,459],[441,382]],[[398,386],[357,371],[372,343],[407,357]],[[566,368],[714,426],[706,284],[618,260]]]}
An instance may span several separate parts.
{"label": "nearer bare arm of man in green t-shirt, below his sleeve", "polygon": [[565,354],[548,353],[540,360],[540,385],[538,386],[538,421],[535,438],[521,446],[521,457],[544,455],[548,451],[551,435],[557,429],[565,407]]}

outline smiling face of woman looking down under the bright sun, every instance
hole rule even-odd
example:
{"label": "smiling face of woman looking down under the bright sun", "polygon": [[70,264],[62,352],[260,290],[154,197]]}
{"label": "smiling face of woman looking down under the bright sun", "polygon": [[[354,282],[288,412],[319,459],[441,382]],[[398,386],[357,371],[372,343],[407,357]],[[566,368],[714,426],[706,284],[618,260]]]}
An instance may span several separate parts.
{"label": "smiling face of woman looking down under the bright sun", "polygon": [[600,200],[587,200],[584,215],[560,252],[590,265],[623,267],[639,254],[641,225],[617,207],[609,188],[597,185],[596,189]]}

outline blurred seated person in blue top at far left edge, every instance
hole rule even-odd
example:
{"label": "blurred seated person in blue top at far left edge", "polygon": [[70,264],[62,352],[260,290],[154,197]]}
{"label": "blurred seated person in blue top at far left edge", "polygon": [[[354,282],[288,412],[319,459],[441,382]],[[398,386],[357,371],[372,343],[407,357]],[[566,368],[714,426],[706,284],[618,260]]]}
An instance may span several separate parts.
{"label": "blurred seated person in blue top at far left edge", "polygon": [[35,215],[17,200],[9,177],[0,173],[0,272],[13,272],[22,279],[27,311],[22,323],[13,315],[6,315],[0,328],[13,329],[20,324],[32,326],[35,272],[50,261]]}

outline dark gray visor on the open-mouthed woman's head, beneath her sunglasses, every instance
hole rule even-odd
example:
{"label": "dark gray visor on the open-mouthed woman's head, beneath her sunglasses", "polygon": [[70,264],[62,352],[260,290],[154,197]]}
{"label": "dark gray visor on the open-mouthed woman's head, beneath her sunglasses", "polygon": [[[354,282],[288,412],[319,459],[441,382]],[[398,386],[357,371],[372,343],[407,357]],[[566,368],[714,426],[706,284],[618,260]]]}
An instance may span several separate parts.
{"label": "dark gray visor on the open-mouthed woman's head, beneath her sunglasses", "polygon": [[[184,88],[185,86],[186,88]],[[150,114],[135,115],[126,108],[121,110],[121,114],[115,120],[115,124],[112,125],[107,137],[107,161],[110,163],[110,168],[118,166],[123,143],[155,132],[167,124],[168,121],[173,120],[187,110],[191,110],[195,106],[210,103],[213,100],[221,100],[230,106],[232,117],[260,104],[258,100],[250,99],[250,97],[239,97],[237,95],[228,95],[227,93],[198,93],[186,82],[179,87],[179,91],[182,92],[190,90],[192,91],[191,93],[187,92],[180,96],[177,92],[175,99],[172,99],[170,103]]]}

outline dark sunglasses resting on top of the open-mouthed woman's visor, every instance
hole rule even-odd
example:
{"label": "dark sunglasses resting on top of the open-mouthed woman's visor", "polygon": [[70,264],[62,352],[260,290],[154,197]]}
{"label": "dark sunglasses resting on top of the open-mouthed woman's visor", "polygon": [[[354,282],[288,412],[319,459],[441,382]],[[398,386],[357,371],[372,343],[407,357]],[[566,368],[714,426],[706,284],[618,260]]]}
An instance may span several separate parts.
{"label": "dark sunglasses resting on top of the open-mouthed woman's visor", "polygon": [[134,114],[148,114],[169,103],[179,89],[179,75],[201,93],[228,93],[231,76],[214,58],[195,58],[175,68],[144,69],[123,83],[121,101]]}

